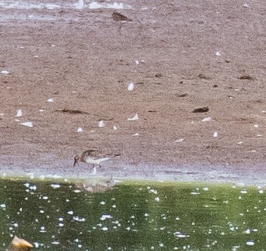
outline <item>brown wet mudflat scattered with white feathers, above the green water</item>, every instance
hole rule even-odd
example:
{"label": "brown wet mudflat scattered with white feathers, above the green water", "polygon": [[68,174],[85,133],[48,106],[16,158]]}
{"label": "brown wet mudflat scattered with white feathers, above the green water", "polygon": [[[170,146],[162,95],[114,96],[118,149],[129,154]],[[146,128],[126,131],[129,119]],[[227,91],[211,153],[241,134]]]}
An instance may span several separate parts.
{"label": "brown wet mudflat scattered with white feathers, above the green water", "polygon": [[1,172],[89,176],[72,161],[96,148],[121,154],[103,176],[266,182],[265,4],[124,4],[132,21],[108,8],[0,8]]}

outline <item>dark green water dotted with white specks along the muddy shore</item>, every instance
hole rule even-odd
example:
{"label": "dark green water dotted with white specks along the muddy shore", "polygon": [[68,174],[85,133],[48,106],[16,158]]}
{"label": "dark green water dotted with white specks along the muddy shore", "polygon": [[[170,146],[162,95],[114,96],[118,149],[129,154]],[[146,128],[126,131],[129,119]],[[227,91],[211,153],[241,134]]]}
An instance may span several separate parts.
{"label": "dark green water dotted with white specks along the muddy shore", "polygon": [[263,188],[0,180],[0,250],[265,250]]}

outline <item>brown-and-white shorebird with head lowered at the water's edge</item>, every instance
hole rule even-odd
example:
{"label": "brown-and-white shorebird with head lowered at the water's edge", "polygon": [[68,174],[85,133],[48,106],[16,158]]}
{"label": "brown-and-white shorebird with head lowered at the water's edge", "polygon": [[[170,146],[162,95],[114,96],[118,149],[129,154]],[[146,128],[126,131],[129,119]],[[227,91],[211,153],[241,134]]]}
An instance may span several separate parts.
{"label": "brown-and-white shorebird with head lowered at the water's edge", "polygon": [[111,157],[117,157],[117,156],[120,156],[120,154],[113,154],[113,155],[112,154],[103,154],[97,150],[89,149],[87,151],[82,152],[81,157],[79,155],[76,155],[74,157],[73,166],[75,166],[76,164],[78,164],[80,162],[92,164],[92,168],[94,169],[94,171],[91,174],[96,175],[95,165],[98,165],[101,168],[102,162],[107,161]]}

